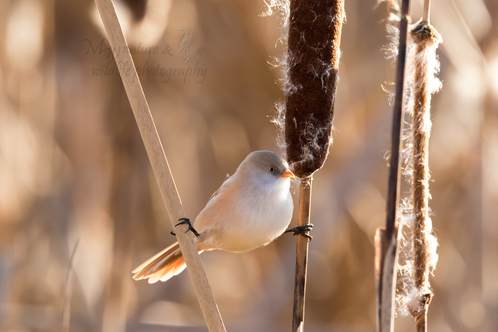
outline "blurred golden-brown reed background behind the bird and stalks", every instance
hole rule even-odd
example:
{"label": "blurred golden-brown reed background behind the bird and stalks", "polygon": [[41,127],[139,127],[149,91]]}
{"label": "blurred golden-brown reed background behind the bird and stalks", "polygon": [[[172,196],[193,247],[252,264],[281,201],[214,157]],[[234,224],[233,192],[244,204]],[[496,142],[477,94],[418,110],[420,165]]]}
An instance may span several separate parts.
{"label": "blurred golden-brown reed background behind the bird and stalks", "polygon": [[[416,21],[421,1],[412,2]],[[263,0],[114,3],[195,219],[250,151],[281,152],[270,117],[283,94],[268,64],[283,52],[280,20],[260,16]],[[313,181],[309,332],[375,330],[373,236],[391,125],[381,84],[394,68],[380,51],[386,4],[345,5],[334,144]],[[444,42],[428,331],[498,331],[498,2],[433,0],[431,22]],[[186,65],[183,27],[194,36]],[[0,0],[0,331],[61,330],[77,239],[70,331],[207,331],[187,272],[131,279],[175,237],[103,31],[92,0]],[[227,331],[290,331],[295,242],[284,234],[244,254],[202,254]],[[413,319],[397,318],[395,330],[414,332]]]}

